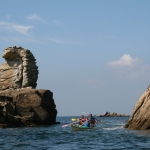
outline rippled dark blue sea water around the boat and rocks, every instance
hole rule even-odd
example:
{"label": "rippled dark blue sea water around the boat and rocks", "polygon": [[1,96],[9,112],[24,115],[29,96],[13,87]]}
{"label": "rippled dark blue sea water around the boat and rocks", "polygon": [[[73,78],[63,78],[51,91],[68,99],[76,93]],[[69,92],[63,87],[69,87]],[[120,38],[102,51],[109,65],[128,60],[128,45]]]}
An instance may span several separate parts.
{"label": "rippled dark blue sea water around the boat and rocks", "polygon": [[57,117],[60,124],[0,129],[0,150],[150,150],[150,131],[124,129],[128,117],[98,118],[96,130],[72,131],[72,117]]}

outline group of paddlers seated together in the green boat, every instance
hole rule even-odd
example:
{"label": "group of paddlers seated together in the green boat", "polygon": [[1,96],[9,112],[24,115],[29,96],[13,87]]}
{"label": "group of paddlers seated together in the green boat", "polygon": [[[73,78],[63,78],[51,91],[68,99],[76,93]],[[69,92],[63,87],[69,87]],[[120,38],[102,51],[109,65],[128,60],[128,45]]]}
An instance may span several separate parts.
{"label": "group of paddlers seated together in the green boat", "polygon": [[92,114],[89,114],[87,118],[85,118],[84,115],[82,115],[81,118],[77,119],[77,121],[73,123],[82,125],[85,127],[90,127],[90,126],[96,125],[97,122],[98,120],[94,118]]}

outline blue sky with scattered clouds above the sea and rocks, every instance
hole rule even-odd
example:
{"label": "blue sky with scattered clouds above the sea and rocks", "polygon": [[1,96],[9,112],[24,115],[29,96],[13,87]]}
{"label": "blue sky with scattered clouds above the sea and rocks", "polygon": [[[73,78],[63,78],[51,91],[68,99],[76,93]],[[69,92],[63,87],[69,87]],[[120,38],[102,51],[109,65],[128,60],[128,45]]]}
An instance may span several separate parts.
{"label": "blue sky with scattered clouds above the sea and rocks", "polygon": [[[5,0],[0,53],[29,49],[58,116],[131,114],[150,84],[149,0]],[[0,58],[0,64],[5,62]]]}

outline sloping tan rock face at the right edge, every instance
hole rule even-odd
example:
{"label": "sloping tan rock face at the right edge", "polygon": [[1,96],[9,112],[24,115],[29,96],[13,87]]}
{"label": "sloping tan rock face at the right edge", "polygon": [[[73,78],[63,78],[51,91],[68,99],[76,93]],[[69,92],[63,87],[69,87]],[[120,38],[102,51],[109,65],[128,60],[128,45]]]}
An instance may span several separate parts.
{"label": "sloping tan rock face at the right edge", "polygon": [[124,127],[133,130],[150,129],[150,86],[137,101]]}

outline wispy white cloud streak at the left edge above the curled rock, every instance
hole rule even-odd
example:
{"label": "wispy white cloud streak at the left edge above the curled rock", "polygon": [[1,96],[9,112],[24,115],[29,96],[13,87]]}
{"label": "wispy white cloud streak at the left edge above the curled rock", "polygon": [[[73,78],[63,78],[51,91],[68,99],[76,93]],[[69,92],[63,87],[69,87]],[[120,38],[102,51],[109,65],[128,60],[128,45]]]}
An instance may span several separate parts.
{"label": "wispy white cloud streak at the left edge above the curled rock", "polygon": [[18,25],[14,23],[9,23],[9,22],[0,22],[0,27],[3,27],[4,29],[8,31],[15,31],[21,34],[28,35],[29,29],[32,29],[33,26],[23,26],[23,25]]}

